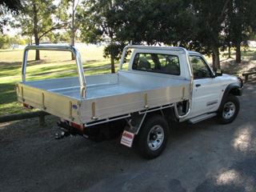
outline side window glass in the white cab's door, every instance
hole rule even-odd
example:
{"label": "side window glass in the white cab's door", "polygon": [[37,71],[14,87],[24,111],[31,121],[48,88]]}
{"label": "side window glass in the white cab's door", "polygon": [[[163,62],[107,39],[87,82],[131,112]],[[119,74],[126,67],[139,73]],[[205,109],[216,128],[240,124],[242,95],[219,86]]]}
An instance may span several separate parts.
{"label": "side window glass in the white cab's door", "polygon": [[211,78],[211,72],[206,62],[196,55],[190,56],[190,62],[193,67],[194,78]]}

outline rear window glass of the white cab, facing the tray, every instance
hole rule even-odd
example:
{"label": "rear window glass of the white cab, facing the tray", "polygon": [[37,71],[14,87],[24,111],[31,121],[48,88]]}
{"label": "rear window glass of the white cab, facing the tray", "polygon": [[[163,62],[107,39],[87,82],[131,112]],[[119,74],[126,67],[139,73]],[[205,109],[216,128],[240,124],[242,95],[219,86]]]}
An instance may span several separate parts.
{"label": "rear window glass of the white cab, facing the tray", "polygon": [[180,75],[178,56],[170,54],[136,54],[132,69]]}

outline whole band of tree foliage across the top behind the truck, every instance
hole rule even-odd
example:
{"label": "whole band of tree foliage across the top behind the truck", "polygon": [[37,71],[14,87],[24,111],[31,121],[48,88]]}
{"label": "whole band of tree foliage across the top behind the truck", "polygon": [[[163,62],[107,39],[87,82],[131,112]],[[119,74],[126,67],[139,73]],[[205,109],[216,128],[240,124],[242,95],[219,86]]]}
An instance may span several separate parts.
{"label": "whole band of tree foliage across the top behind the truck", "polygon": [[58,5],[54,0],[23,0],[18,16],[22,33],[34,36],[38,45],[46,35],[60,38],[51,32],[66,26],[70,45],[74,45],[80,30],[84,42],[107,42],[105,56],[110,57],[114,73],[114,61],[130,41],[197,50],[212,55],[217,69],[219,50],[234,46],[240,62],[240,45],[256,30],[256,0],[80,1],[81,6],[79,0],[64,0]]}

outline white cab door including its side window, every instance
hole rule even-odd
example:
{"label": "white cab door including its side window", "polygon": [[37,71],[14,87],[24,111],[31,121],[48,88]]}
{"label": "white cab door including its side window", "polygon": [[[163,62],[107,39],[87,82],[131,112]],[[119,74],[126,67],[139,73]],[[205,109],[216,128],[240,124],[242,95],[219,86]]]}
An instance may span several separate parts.
{"label": "white cab door including its side window", "polygon": [[218,78],[206,61],[200,55],[190,55],[190,62],[194,73],[194,87],[192,95],[192,110],[190,118],[218,110],[220,95],[222,94]]}

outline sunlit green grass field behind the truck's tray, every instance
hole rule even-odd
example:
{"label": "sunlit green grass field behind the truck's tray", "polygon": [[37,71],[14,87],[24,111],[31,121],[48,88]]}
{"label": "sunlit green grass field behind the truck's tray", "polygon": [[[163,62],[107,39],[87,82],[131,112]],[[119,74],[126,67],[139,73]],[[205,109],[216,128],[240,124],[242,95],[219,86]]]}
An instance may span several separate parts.
{"label": "sunlit green grass field behind the truck's tray", "polygon": [[[110,62],[102,57],[103,47],[86,46],[80,49],[86,75],[110,73]],[[23,50],[0,50],[0,115],[27,110],[17,102],[15,83],[21,81]],[[30,50],[26,70],[29,81],[77,76],[77,67],[71,54],[62,51],[40,51],[41,61],[35,62]]]}

